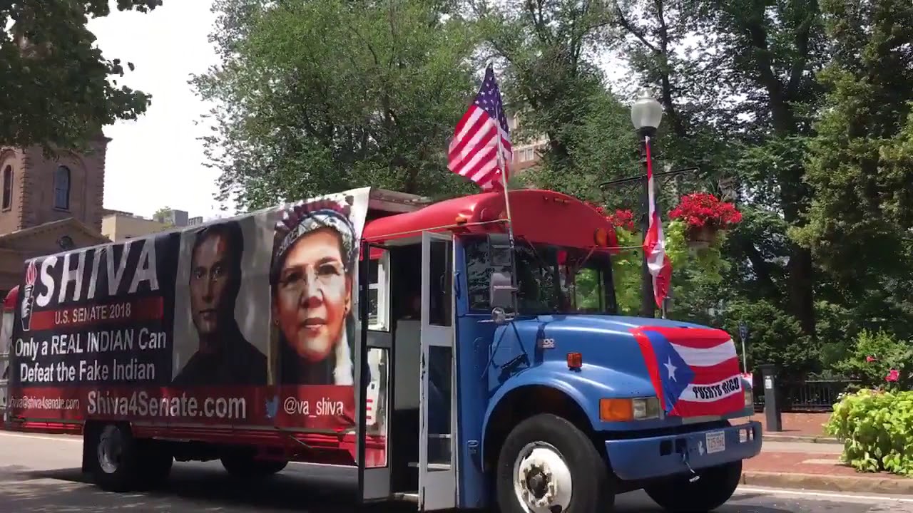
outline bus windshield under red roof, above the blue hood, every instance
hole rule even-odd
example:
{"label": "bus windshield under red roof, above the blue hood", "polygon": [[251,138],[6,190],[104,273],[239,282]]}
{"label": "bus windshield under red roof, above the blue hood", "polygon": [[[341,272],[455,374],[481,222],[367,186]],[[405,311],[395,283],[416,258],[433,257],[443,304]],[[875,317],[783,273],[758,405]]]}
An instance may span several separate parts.
{"label": "bus windshield under red roof, above the blue hood", "polygon": [[[488,277],[509,266],[493,264],[488,241],[466,246],[469,308],[490,311]],[[612,262],[604,249],[516,241],[520,314],[615,313]]]}

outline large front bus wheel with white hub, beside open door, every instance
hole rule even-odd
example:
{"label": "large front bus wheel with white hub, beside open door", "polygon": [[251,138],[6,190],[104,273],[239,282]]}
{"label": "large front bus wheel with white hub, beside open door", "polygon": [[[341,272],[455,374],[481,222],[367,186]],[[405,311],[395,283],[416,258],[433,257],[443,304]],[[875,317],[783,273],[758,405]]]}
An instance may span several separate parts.
{"label": "large front bus wheel with white hub, beside open door", "polygon": [[[539,472],[540,468],[545,471]],[[515,488],[521,473],[529,477],[518,487],[527,497],[542,501],[534,510],[608,513],[614,507],[614,487],[602,455],[586,434],[557,415],[538,414],[522,421],[501,445],[495,475],[501,513],[527,513],[525,504],[530,499]],[[549,481],[556,487],[546,492],[542,485],[547,487]]]}

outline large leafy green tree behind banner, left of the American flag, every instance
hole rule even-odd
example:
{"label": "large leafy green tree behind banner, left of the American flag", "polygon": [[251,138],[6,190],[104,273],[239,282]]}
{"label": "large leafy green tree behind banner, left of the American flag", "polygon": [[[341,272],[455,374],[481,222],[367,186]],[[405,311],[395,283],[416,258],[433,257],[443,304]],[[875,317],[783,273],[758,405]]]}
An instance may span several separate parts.
{"label": "large leafy green tree behind banner, left of the American flag", "polygon": [[242,208],[372,185],[477,190],[446,169],[476,94],[473,26],[446,2],[218,0],[222,62],[194,79],[215,100],[205,141],[220,199]]}

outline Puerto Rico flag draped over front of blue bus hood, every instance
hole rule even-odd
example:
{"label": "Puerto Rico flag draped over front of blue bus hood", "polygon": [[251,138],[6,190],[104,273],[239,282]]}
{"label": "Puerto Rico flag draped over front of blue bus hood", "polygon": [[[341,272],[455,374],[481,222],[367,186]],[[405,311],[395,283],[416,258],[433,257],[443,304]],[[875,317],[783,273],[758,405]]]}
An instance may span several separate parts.
{"label": "Puerto Rico flag draped over front of blue bus hood", "polygon": [[739,356],[723,330],[632,329],[666,415],[698,417],[745,409]]}

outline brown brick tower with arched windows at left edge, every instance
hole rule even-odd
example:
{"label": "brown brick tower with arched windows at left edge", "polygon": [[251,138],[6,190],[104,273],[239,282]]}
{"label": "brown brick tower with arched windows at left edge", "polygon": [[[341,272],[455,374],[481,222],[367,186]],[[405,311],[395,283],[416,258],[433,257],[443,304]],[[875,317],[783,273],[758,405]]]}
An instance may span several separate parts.
{"label": "brown brick tower with arched windows at left edge", "polygon": [[48,160],[40,148],[0,148],[0,294],[18,285],[26,258],[107,242],[101,236],[105,151]]}

